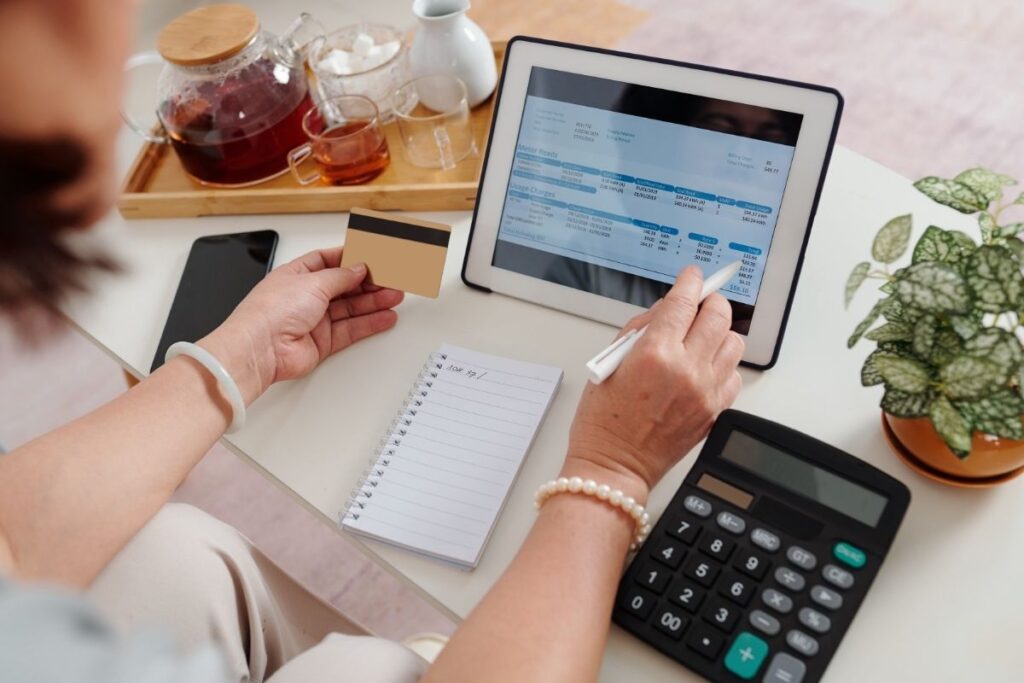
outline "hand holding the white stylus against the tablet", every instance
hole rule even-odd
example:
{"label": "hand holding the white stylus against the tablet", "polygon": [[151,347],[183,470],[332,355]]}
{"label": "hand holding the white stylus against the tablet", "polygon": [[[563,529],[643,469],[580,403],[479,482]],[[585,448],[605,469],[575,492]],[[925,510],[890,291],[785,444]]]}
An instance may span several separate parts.
{"label": "hand holding the white stylus against the tablet", "polygon": [[563,475],[618,486],[639,501],[708,434],[739,392],[742,337],[729,330],[729,302],[699,306],[702,278],[690,266],[649,311],[623,332],[649,325],[618,370],[587,385],[569,435]]}

